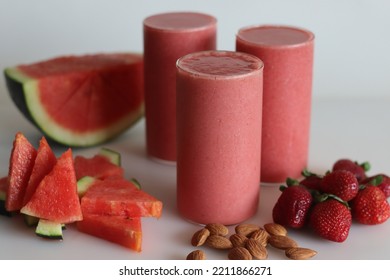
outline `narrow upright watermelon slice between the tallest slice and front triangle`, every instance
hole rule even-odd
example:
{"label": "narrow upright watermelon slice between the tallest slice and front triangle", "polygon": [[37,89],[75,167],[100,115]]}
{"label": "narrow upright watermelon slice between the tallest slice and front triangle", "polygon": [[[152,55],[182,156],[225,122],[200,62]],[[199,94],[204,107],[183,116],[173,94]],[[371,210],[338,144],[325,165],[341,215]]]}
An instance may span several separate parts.
{"label": "narrow upright watermelon slice between the tallest slice and front triangle", "polygon": [[57,162],[57,158],[50,148],[45,137],[42,137],[39,142],[37,157],[35,158],[33,170],[31,172],[30,179],[24,194],[23,205],[26,205],[33,196],[36,188],[42,179],[50,173],[54,165]]}

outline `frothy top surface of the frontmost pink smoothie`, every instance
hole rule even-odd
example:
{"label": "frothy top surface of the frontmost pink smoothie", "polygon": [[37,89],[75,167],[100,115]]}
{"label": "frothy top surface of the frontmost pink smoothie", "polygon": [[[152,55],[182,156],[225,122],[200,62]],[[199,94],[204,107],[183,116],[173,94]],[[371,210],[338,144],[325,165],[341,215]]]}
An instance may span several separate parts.
{"label": "frothy top surface of the frontmost pink smoothie", "polygon": [[179,69],[197,76],[243,76],[263,68],[257,57],[233,51],[202,51],[188,54],[177,62]]}

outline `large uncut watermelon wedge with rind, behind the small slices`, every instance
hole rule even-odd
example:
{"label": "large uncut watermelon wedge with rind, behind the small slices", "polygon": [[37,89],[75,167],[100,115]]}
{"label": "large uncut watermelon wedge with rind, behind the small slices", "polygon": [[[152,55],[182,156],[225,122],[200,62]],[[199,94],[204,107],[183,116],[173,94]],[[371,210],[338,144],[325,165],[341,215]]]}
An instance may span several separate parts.
{"label": "large uncut watermelon wedge with rind, behind the small slices", "polygon": [[66,146],[106,142],[143,116],[143,57],[102,53],[57,57],[4,71],[19,110]]}

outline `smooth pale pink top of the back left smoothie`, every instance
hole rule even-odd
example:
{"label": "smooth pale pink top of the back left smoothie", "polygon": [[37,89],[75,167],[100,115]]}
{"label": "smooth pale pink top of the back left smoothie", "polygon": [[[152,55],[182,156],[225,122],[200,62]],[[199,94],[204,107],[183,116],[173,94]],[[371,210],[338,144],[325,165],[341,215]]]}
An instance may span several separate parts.
{"label": "smooth pale pink top of the back left smoothie", "polygon": [[216,19],[213,16],[194,12],[156,14],[144,20],[145,27],[164,31],[202,29],[215,24]]}

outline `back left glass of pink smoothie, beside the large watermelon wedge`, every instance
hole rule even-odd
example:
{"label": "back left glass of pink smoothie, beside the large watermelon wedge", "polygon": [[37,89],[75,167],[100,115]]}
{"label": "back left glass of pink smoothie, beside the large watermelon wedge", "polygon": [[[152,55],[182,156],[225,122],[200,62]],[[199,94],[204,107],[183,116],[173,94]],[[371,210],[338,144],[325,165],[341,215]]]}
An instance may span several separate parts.
{"label": "back left glass of pink smoothie, beside the large watermelon wedge", "polygon": [[216,48],[214,17],[193,12],[156,14],[144,24],[146,147],[150,157],[176,162],[176,61]]}

